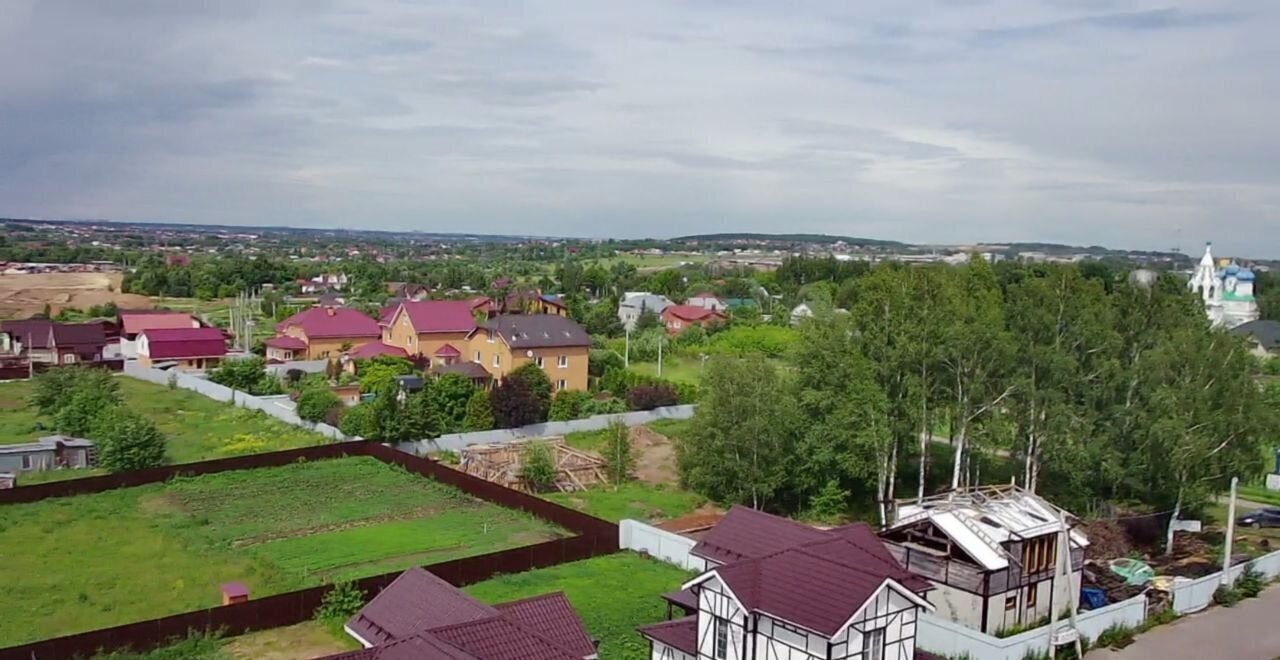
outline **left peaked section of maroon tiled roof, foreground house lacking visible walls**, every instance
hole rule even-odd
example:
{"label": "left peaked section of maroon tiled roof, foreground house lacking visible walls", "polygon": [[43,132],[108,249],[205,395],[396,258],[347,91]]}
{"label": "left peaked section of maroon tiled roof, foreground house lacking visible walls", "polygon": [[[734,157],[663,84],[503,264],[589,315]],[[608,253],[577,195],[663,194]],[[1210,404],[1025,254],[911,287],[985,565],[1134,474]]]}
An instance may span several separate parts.
{"label": "left peaked section of maroon tiled roof, foreground house lacking visible walls", "polygon": [[369,601],[347,627],[369,643],[410,637],[424,628],[484,619],[498,610],[421,568],[411,568]]}

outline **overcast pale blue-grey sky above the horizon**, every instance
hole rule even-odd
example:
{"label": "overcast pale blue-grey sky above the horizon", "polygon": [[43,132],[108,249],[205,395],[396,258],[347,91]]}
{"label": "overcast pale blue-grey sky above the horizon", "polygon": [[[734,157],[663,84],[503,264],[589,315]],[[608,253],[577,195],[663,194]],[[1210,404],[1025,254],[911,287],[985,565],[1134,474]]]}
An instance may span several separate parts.
{"label": "overcast pale blue-grey sky above the horizon", "polygon": [[0,215],[1280,257],[1275,0],[0,0]]}

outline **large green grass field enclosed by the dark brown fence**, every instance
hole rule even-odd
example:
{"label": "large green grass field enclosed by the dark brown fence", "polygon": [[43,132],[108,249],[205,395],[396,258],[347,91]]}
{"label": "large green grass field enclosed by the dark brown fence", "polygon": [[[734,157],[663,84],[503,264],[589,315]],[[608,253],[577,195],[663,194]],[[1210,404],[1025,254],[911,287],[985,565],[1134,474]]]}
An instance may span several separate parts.
{"label": "large green grass field enclosed by the dark brown fence", "polygon": [[0,647],[562,533],[371,458],[0,507]]}

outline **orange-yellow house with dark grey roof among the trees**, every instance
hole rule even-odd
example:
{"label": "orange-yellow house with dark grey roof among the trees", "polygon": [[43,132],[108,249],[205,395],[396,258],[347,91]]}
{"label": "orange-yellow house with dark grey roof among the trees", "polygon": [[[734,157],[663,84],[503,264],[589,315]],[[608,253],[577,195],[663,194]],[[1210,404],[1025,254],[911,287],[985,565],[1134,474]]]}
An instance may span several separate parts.
{"label": "orange-yellow house with dark grey roof among the trees", "polygon": [[573,320],[553,315],[502,315],[477,326],[467,339],[471,361],[502,380],[532,362],[547,372],[552,389],[586,390],[591,335]]}

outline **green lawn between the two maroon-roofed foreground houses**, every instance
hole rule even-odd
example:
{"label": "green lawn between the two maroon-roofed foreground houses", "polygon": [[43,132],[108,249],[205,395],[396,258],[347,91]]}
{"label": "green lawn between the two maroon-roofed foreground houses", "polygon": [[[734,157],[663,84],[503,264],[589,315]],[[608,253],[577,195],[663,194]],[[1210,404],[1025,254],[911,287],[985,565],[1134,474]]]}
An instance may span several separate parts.
{"label": "green lawn between the two maroon-roofed foreground houses", "polygon": [[563,591],[588,632],[600,641],[600,657],[643,660],[649,657],[649,643],[636,627],[664,620],[667,605],[659,595],[680,588],[691,577],[671,564],[620,553],[502,576],[466,591],[485,602]]}

